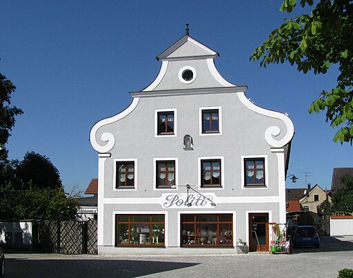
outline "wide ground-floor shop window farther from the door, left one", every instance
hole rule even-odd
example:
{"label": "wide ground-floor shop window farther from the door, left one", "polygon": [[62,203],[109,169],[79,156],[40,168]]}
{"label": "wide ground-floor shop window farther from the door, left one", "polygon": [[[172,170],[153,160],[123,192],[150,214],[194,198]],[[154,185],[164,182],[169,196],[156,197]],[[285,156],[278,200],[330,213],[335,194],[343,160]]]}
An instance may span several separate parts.
{"label": "wide ground-floor shop window farther from the door, left one", "polygon": [[117,215],[116,246],[164,246],[164,215]]}

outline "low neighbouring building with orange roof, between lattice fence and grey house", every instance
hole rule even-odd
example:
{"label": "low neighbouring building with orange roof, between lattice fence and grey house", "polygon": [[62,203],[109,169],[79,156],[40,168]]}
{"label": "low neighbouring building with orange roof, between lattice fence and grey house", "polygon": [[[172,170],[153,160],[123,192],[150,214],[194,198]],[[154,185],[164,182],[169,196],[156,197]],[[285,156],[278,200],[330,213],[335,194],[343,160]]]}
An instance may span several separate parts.
{"label": "low neighbouring building with orange roof, between lattice fence and grey house", "polygon": [[85,195],[91,197],[79,198],[80,208],[77,211],[77,220],[98,219],[98,179],[92,179],[85,190]]}

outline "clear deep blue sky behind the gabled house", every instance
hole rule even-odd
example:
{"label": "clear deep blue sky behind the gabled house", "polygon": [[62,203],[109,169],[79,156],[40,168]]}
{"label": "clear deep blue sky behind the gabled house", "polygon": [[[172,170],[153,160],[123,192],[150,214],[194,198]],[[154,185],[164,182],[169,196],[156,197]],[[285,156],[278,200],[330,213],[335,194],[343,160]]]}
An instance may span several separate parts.
{"label": "clear deep blue sky behind the gabled house", "polygon": [[[352,166],[352,147],[332,141],[335,130],[324,113],[307,108],[336,83],[327,75],[304,75],[289,65],[261,68],[249,57],[283,18],[280,0],[113,1],[2,0],[0,72],[17,86],[17,117],[7,148],[10,159],[27,151],[57,166],[65,190],[85,190],[97,177],[97,153],[90,128],[125,109],[128,92],[142,90],[159,72],[155,57],[185,34],[219,52],[216,68],[247,97],[287,112],[296,134],[290,168],[299,180],[288,187],[318,183],[330,189],[332,170]],[[296,12],[302,12],[296,8]]]}

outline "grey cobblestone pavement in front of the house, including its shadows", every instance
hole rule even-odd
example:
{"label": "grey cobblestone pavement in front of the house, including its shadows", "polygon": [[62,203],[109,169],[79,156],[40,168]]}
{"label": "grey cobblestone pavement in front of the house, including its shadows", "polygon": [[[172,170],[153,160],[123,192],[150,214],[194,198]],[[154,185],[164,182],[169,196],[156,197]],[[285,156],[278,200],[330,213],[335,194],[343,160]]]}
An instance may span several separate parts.
{"label": "grey cobblestone pavement in front of the house, including its shadows", "polygon": [[6,254],[5,277],[337,277],[353,268],[353,237],[323,237],[292,255],[164,257]]}

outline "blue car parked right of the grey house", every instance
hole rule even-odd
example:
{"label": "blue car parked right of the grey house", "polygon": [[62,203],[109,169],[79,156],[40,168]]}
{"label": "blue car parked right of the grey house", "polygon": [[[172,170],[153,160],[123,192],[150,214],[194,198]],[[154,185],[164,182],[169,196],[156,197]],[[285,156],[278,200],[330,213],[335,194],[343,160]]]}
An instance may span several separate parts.
{"label": "blue car parked right of the grey house", "polygon": [[293,247],[316,246],[320,247],[320,237],[314,226],[296,226],[292,237]]}

